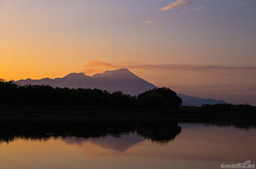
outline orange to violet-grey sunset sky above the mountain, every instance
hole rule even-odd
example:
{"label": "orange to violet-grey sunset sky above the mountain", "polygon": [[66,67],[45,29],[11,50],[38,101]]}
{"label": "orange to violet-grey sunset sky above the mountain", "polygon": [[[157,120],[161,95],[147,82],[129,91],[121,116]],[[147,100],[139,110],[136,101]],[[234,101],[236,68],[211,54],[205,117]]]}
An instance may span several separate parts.
{"label": "orange to violet-grey sunset sky above the mountain", "polygon": [[256,105],[255,0],[0,0],[0,78],[129,68],[156,86]]}

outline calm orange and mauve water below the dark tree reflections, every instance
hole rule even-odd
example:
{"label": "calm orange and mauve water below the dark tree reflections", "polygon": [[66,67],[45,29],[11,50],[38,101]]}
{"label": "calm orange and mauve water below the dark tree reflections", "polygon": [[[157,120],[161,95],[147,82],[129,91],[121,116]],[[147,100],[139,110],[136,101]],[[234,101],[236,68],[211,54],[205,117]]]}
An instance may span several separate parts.
{"label": "calm orange and mauve water below the dark tree reflections", "polygon": [[210,169],[220,168],[222,163],[256,162],[255,129],[204,124],[179,126],[181,132],[161,142],[147,139],[136,131],[87,138],[17,136],[0,143],[0,168]]}

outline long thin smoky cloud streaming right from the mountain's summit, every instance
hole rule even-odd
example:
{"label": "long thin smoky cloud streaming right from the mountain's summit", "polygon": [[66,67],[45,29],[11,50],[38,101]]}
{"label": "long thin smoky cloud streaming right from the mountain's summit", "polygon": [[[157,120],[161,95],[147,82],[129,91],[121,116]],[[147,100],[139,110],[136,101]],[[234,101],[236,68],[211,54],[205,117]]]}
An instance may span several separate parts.
{"label": "long thin smoky cloud streaming right from the mountain's summit", "polygon": [[84,74],[95,74],[104,70],[119,68],[141,70],[174,70],[174,71],[213,71],[213,70],[248,70],[255,71],[256,67],[235,67],[223,65],[191,65],[191,64],[111,64],[104,61],[90,61],[85,64]]}

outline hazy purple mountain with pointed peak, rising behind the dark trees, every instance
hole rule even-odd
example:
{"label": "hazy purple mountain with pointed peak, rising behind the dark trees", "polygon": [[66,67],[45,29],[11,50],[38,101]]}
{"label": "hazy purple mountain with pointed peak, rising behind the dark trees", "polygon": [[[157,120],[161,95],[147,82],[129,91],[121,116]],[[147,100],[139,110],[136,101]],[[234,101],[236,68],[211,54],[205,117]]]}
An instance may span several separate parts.
{"label": "hazy purple mountain with pointed peak, rising behind the dark trees", "polygon": [[[72,73],[62,78],[43,78],[41,80],[27,79],[13,82],[21,86],[32,84],[68,88],[106,89],[109,92],[122,91],[130,95],[138,95],[141,92],[156,88],[152,83],[137,77],[126,68],[106,71],[103,74],[95,74],[91,77],[85,74]],[[213,105],[226,103],[221,100],[201,99],[184,94],[179,94],[179,96],[182,97],[182,105],[201,106],[204,104]]]}

